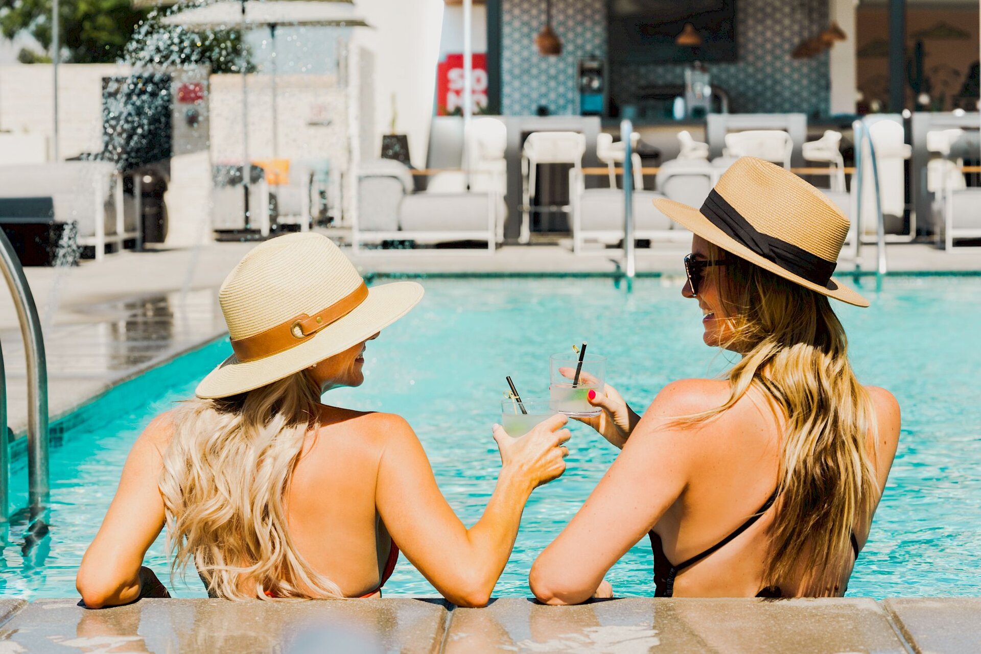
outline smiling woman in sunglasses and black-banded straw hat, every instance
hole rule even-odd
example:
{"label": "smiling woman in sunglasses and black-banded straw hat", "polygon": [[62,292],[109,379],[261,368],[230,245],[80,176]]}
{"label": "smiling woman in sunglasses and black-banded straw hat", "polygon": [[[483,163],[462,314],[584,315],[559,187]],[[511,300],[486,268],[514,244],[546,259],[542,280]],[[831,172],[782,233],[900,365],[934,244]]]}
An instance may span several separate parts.
{"label": "smiling woman in sunglasses and black-banded straw hat", "polygon": [[574,604],[648,535],[657,596],[842,595],[896,453],[900,408],[858,383],[828,298],[849,220],[800,177],[738,160],[701,209],[682,294],[703,340],[742,359],[665,386],[643,417],[610,386],[591,425],[623,451],[532,567],[536,596]]}

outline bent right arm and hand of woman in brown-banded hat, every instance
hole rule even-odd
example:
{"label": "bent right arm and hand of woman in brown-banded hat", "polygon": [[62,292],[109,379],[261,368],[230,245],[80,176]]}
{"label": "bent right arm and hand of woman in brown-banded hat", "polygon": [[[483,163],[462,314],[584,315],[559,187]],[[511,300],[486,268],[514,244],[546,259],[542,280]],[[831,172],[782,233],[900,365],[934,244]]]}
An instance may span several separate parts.
{"label": "bent right arm and hand of woman in brown-banded hat", "polygon": [[392,540],[449,601],[484,606],[514,547],[532,490],[565,471],[564,416],[544,421],[520,438],[494,428],[501,471],[484,515],[465,528],[446,503],[422,444],[408,423],[380,416],[387,445],[379,467],[376,503]]}

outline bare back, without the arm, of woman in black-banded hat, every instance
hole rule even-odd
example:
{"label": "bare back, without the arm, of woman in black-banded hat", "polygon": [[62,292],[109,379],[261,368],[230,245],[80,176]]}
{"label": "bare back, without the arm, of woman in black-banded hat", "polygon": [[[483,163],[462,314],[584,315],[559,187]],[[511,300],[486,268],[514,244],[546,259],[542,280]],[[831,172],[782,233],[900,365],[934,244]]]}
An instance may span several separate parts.
{"label": "bare back, without the arm, of woman in black-banded hat", "polygon": [[[729,382],[697,382],[706,407],[719,406],[728,398]],[[895,399],[888,391],[868,387],[877,418],[878,446],[869,434],[869,455],[876,465],[879,496],[893,463],[899,438]],[[898,408],[897,408],[898,412]],[[781,434],[786,419],[764,394],[750,388],[737,403],[717,419],[695,430],[699,448],[697,473],[657,522],[653,531],[661,537],[664,554],[674,563],[705,551],[739,528],[764,506],[777,485]],[[768,551],[768,528],[780,509],[779,500],[746,531],[702,561],[679,573],[675,596],[752,596],[762,588]],[[868,536],[871,516],[853,528],[859,547]],[[804,571],[801,571],[801,576]],[[844,571],[833,594],[844,594],[851,567]],[[799,595],[800,579],[785,582],[785,596]]]}

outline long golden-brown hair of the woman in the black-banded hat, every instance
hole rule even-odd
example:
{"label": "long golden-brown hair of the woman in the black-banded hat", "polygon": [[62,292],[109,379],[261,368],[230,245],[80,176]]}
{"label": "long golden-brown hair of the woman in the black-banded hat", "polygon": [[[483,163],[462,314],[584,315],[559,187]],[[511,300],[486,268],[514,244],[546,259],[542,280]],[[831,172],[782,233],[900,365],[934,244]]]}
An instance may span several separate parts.
{"label": "long golden-brown hair of the woman in the black-banded hat", "polygon": [[743,352],[729,371],[730,394],[702,421],[756,387],[786,417],[777,515],[770,528],[764,582],[798,579],[806,595],[835,594],[852,563],[852,529],[871,518],[878,483],[868,452],[875,440],[871,400],[848,358],[845,329],[828,298],[709,243],[706,270],[730,316],[722,343]]}

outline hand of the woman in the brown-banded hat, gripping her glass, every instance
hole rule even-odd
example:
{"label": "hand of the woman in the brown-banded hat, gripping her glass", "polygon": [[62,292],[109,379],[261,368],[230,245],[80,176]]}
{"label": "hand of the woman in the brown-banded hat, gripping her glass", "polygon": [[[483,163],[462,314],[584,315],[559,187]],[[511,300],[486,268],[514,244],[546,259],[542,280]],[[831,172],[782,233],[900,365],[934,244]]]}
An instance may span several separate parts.
{"label": "hand of the woman in the brown-banded hat, gripping her glass", "polygon": [[519,438],[512,438],[500,425],[493,426],[493,438],[500,450],[502,474],[510,471],[527,479],[537,488],[565,472],[565,457],[569,450],[562,445],[569,440],[569,419],[558,414],[543,420]]}

